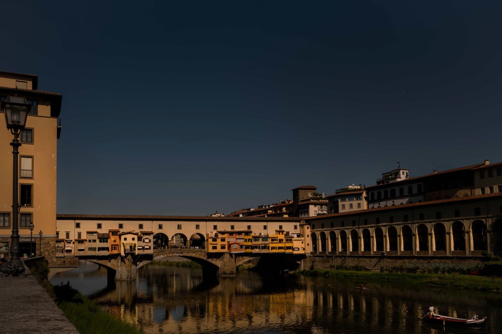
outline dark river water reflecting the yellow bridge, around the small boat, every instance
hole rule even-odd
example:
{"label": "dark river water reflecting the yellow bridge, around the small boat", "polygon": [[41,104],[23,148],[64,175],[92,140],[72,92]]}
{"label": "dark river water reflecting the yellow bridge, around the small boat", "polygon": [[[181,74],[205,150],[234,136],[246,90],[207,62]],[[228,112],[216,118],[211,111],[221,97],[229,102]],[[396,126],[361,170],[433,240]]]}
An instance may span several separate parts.
{"label": "dark river water reflecting the yellow bridge, around the small boat", "polygon": [[[202,269],[147,265],[132,282],[107,286],[106,270],[81,261],[51,282],[70,281],[103,309],[146,333],[500,333],[502,294],[359,282],[301,275],[202,280]],[[363,283],[370,290],[356,289]],[[114,285],[114,286],[113,286]],[[485,328],[422,322],[431,303],[441,314],[487,316]]]}

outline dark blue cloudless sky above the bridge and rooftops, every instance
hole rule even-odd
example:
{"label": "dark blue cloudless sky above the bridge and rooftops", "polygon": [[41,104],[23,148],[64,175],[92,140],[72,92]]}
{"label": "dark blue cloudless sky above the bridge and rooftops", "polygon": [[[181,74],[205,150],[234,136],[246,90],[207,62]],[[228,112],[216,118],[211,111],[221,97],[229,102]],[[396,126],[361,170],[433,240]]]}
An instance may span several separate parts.
{"label": "dark blue cloudless sky above the bridge and rooftops", "polygon": [[500,13],[11,2],[2,70],[63,94],[58,212],[230,213],[303,184],[371,185],[398,161],[412,176],[502,161]]}

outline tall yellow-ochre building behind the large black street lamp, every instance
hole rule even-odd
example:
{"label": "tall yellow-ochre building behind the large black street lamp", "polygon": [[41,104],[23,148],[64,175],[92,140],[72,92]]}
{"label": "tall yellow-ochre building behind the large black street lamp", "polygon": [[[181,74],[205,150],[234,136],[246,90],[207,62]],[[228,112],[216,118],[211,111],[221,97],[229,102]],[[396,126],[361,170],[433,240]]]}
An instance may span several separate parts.
{"label": "tall yellow-ochre building behind the large black street lamp", "polygon": [[[9,95],[25,97],[32,105],[26,128],[20,135],[19,148],[19,234],[21,256],[38,254],[55,261],[56,253],[56,175],[57,140],[61,131],[58,123],[62,96],[38,90],[38,77],[32,74],[0,72],[0,100]],[[8,258],[12,230],[12,177],[13,154],[10,146],[14,136],[4,121],[0,111],[0,257]],[[30,240],[29,225],[35,225],[33,239]],[[42,238],[39,237],[42,231]],[[33,247],[30,246],[31,241]],[[58,242],[59,251],[64,250],[63,242]],[[31,249],[31,250],[30,250]]]}

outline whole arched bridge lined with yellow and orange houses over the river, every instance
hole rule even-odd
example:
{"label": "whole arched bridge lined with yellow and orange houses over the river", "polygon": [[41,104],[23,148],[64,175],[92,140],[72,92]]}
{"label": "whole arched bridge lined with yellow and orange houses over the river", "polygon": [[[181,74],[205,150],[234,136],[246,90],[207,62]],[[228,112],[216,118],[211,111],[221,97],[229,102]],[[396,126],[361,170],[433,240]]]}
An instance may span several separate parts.
{"label": "whole arched bridge lined with yellow and orange houses over the river", "polygon": [[309,225],[298,217],[58,214],[57,231],[57,257],[97,263],[119,280],[173,256],[201,264],[204,274],[233,276],[254,258],[286,265],[311,251]]}

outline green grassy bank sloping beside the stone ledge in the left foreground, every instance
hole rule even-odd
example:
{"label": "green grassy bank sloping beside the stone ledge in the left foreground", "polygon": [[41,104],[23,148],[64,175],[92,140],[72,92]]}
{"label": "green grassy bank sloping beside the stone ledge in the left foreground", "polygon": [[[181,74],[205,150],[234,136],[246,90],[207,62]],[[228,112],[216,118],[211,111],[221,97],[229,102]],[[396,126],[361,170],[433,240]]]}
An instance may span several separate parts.
{"label": "green grassy bank sloping beside the stone ledge in the left foreground", "polygon": [[101,310],[97,304],[71,287],[70,282],[52,285],[47,279],[49,273],[47,261],[36,262],[30,267],[30,271],[80,334],[142,333],[133,324]]}

